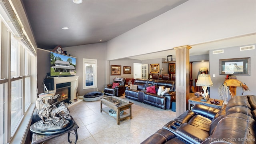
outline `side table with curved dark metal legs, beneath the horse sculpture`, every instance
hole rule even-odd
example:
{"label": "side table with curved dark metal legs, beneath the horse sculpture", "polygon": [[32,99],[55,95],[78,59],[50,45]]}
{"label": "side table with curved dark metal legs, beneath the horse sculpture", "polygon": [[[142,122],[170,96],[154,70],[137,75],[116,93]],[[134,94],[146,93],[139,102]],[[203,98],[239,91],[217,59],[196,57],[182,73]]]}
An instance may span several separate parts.
{"label": "side table with curved dark metal legs, beneath the horse sculpture", "polygon": [[[70,133],[72,133],[71,131],[74,130],[74,136],[76,137],[76,140],[75,140],[75,144],[76,144],[76,141],[78,139],[78,134],[77,134],[77,129],[79,128],[78,125],[76,124],[76,122],[74,121],[74,119],[72,118],[72,121],[74,122],[74,126],[72,128],[70,128],[69,130],[65,131],[65,132],[62,132],[62,133],[59,133],[59,134],[54,134],[54,135],[40,135],[40,134],[32,134],[32,142],[31,144],[40,144],[42,142],[45,142],[46,140],[50,140],[52,138],[56,138],[57,136],[60,136],[62,134],[65,134],[68,132],[68,142],[70,142]],[[73,134],[73,133],[72,133]]]}

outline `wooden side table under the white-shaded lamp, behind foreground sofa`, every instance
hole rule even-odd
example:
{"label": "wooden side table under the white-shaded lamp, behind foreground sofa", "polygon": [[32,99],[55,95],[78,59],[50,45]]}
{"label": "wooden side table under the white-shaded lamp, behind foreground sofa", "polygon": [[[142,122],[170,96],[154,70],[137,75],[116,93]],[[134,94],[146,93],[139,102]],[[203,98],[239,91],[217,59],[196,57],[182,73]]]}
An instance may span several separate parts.
{"label": "wooden side table under the white-shaded lamp, behind foreground sofa", "polygon": [[[202,105],[210,106],[213,108],[222,109],[223,100],[218,100],[220,102],[219,104],[211,104],[211,101],[214,100],[213,98],[209,98],[209,100],[207,100],[207,102],[203,102],[203,101],[201,101],[201,99],[202,99],[202,97],[197,98],[196,96],[190,98],[188,100],[188,110],[191,110],[191,105],[195,105],[195,104],[202,104]],[[217,99],[215,99],[215,100],[217,100]]]}

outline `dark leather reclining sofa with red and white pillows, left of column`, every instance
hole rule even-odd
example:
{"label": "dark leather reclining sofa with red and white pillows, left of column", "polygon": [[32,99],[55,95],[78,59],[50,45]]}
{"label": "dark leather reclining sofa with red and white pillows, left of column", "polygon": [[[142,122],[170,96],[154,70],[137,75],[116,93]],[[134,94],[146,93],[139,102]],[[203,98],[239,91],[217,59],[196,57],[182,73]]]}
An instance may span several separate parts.
{"label": "dark leather reclining sofa with red and white pillows, left of column", "polygon": [[[143,102],[145,104],[150,104],[162,109],[170,109],[172,101],[175,100],[175,81],[172,80],[153,80],[153,79],[135,79],[134,85],[137,86],[136,89],[131,89],[126,86],[125,97],[136,100],[138,102]],[[155,86],[156,94],[146,91],[149,86]],[[164,86],[164,88],[170,88],[169,92],[164,93],[164,95],[158,95],[159,86]]]}

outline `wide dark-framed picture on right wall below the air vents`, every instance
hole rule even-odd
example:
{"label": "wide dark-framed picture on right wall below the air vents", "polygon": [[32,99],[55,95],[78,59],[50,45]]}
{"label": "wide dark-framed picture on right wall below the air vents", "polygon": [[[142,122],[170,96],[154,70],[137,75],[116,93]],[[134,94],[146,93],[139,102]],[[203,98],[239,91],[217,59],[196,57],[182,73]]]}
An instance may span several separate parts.
{"label": "wide dark-framed picture on right wall below the air vents", "polygon": [[251,58],[230,58],[219,60],[220,75],[250,75]]}

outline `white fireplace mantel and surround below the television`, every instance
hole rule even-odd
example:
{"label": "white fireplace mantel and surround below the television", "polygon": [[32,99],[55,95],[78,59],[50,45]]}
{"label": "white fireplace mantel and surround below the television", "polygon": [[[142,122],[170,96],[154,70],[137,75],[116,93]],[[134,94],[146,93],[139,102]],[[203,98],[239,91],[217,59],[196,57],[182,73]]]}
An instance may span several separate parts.
{"label": "white fireplace mantel and surround below the television", "polygon": [[70,101],[74,102],[74,99],[76,99],[76,90],[78,87],[78,77],[79,76],[67,76],[67,77],[53,77],[54,78],[54,90],[49,90],[49,92],[56,93],[56,84],[61,84],[65,82],[71,83],[70,88]]}

